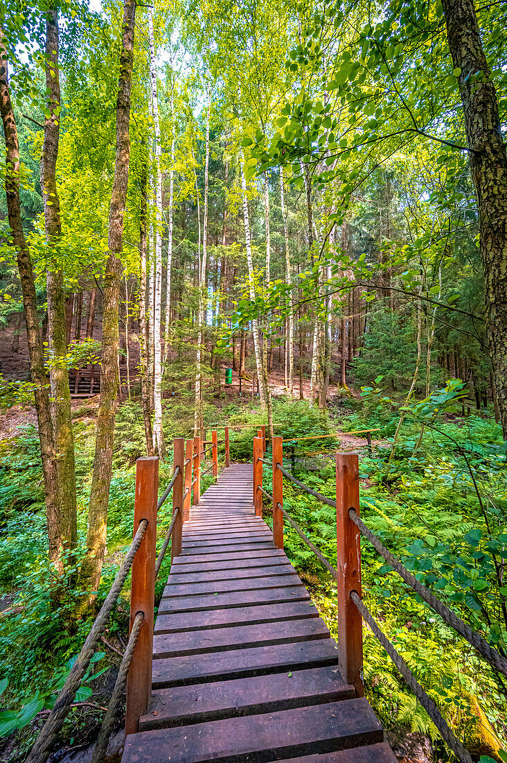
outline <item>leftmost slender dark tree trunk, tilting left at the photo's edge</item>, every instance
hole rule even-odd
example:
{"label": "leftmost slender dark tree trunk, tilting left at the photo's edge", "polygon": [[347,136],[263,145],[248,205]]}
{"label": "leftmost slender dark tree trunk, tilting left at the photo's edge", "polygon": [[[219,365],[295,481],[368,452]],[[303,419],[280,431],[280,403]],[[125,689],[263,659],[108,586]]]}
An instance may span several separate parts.
{"label": "leftmost slender dark tree trunk, tilting left at the photo's edge", "polygon": [[34,269],[21,224],[18,128],[16,127],[14,109],[12,108],[11,94],[8,87],[8,60],[5,45],[2,43],[3,38],[4,32],[0,27],[0,113],[2,114],[2,126],[5,137],[5,195],[7,198],[9,227],[12,231],[12,241],[18,259],[18,271],[23,291],[30,376],[34,383],[35,410],[37,412],[40,456],[44,478],[49,557],[50,562],[56,566],[56,569],[61,571],[61,520],[53,424],[51,422],[50,398],[46,372],[44,371],[43,346],[40,340],[39,318],[37,316],[37,292],[35,291]]}

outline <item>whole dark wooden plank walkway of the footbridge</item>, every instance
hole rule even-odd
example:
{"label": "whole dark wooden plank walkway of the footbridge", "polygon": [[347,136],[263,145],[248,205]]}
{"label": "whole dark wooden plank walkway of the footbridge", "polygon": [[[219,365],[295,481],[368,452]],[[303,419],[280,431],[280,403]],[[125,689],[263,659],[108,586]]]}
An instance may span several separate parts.
{"label": "whole dark wooden plank walkway of the footbridge", "polygon": [[123,763],[395,763],[329,630],[232,465],[184,525],[159,607],[152,702]]}

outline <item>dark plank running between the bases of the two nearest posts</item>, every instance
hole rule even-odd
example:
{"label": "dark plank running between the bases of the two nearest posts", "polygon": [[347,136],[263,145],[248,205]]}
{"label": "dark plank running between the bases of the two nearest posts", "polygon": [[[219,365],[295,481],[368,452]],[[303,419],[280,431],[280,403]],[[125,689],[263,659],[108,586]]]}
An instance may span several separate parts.
{"label": "dark plank running between the bases of the two nearest posts", "polygon": [[323,702],[354,698],[336,668],[313,668],[213,684],[159,689],[148,713],[140,718],[140,731],[185,726],[274,710],[291,710]]}

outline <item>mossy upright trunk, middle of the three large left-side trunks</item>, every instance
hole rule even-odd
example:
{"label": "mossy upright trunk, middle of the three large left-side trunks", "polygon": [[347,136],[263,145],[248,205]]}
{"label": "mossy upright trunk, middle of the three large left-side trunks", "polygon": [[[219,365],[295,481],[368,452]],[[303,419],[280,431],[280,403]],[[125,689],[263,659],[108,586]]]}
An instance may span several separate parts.
{"label": "mossy upright trunk, middle of the three large left-side trunks", "polygon": [[[44,140],[40,161],[40,188],[44,204],[44,230],[47,260],[47,315],[50,349],[50,385],[53,398],[53,432],[58,470],[61,536],[66,550],[75,548],[78,540],[77,504],[75,497],[74,436],[70,405],[69,372],[66,365],[66,315],[63,292],[63,271],[59,266],[57,247],[62,233],[59,197],[56,187],[56,159],[59,146],[59,28],[58,11],[46,13],[46,88],[49,117],[44,120]],[[81,292],[82,296],[82,292]],[[76,311],[75,334],[78,336],[81,310]],[[70,561],[70,560],[69,560]]]}

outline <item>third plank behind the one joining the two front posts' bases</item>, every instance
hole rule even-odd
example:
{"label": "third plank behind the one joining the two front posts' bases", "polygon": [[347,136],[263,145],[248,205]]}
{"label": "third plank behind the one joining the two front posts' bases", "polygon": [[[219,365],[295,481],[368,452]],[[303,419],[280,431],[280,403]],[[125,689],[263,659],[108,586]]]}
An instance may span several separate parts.
{"label": "third plank behind the one joining the two front posts' bases", "polygon": [[186,633],[246,623],[272,623],[276,620],[301,620],[309,617],[319,617],[319,611],[311,601],[261,604],[257,607],[231,607],[226,610],[207,612],[159,614],[155,623],[155,633]]}

